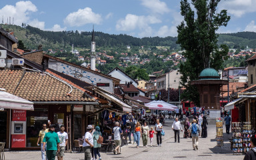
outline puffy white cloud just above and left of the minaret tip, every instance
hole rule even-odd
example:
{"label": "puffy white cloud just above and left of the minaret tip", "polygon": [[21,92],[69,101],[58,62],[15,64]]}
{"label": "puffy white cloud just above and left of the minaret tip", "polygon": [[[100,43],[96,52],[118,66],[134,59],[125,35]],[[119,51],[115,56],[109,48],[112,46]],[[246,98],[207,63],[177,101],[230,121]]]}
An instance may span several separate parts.
{"label": "puffy white cloud just above and left of the minaret tip", "polygon": [[93,13],[92,9],[86,7],[85,9],[78,9],[78,11],[69,13],[64,19],[64,23],[71,27],[80,27],[89,23],[99,25],[102,21],[101,15]]}

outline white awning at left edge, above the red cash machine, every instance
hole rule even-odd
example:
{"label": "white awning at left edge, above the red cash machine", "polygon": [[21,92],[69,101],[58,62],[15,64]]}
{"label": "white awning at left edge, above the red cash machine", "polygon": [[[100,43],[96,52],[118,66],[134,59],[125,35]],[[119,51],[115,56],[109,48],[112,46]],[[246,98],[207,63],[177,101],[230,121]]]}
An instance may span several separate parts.
{"label": "white awning at left edge, above the red cash machine", "polygon": [[4,90],[5,89],[0,89],[0,108],[34,110],[33,102],[7,93]]}

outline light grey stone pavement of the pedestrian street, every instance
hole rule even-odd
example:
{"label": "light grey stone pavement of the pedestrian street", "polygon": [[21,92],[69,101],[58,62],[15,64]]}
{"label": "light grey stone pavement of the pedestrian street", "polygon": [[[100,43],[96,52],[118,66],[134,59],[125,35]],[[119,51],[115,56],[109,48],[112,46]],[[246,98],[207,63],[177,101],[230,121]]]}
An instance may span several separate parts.
{"label": "light grey stone pavement of the pedestrian street", "polygon": [[[165,123],[165,136],[163,137],[162,147],[139,147],[129,144],[121,147],[121,155],[113,155],[113,152],[101,152],[102,159],[243,159],[244,155],[231,152],[230,143],[227,141],[229,135],[224,133],[224,146],[216,147],[215,125],[208,125],[208,137],[199,138],[199,150],[193,151],[192,139],[181,138],[181,143],[174,143],[174,133],[171,130],[173,121]],[[225,127],[224,129],[225,130]],[[230,135],[231,136],[231,135]],[[183,132],[181,132],[183,137]],[[142,140],[140,142],[142,144]],[[156,144],[154,135],[153,144]],[[84,159],[81,153],[65,153],[64,159]],[[7,151],[5,159],[41,159],[40,151]],[[57,158],[56,158],[57,159]]]}

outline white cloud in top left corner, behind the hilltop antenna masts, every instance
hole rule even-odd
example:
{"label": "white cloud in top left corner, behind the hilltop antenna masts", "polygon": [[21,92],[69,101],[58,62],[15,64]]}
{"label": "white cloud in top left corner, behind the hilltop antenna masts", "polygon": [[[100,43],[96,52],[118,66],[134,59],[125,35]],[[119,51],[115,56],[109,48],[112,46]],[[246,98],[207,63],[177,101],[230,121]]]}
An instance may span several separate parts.
{"label": "white cloud in top left corner, behind the hilltop antenna masts", "polygon": [[[37,7],[31,1],[18,1],[15,5],[5,5],[0,9],[0,15],[4,17],[4,22],[7,23],[7,18],[14,18],[15,25],[29,23],[31,13],[37,11]],[[11,22],[12,24],[12,22]]]}

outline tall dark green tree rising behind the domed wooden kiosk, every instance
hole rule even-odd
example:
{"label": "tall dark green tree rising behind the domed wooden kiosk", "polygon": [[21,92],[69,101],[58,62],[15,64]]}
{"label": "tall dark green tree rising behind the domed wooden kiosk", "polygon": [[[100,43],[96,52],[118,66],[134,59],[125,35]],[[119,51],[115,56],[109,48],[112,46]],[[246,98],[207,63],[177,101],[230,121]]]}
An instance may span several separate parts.
{"label": "tall dark green tree rising behind the domed wooden kiosk", "polygon": [[[183,53],[187,61],[181,63],[181,85],[186,89],[182,99],[199,104],[199,93],[191,81],[198,79],[201,71],[209,65],[221,69],[224,59],[227,59],[227,45],[217,46],[217,29],[226,26],[230,17],[227,10],[217,13],[217,5],[221,0],[181,0],[181,15],[184,21],[177,26],[177,43],[185,49]],[[191,5],[195,9],[191,8]]]}

